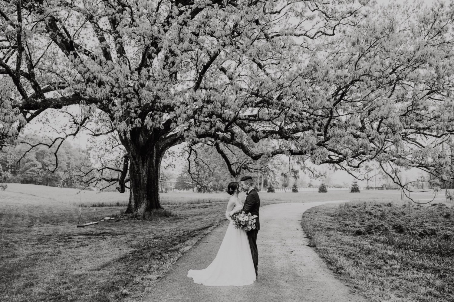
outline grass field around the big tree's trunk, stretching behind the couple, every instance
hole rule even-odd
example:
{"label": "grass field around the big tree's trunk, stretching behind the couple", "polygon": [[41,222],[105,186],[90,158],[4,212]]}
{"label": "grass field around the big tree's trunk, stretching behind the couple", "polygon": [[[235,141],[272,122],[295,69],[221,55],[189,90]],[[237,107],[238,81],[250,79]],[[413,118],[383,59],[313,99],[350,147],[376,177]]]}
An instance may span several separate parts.
{"label": "grass field around the big tree's trunk, stretching behind the couple", "polygon": [[[137,300],[200,238],[225,223],[227,193],[161,194],[173,215],[154,221],[118,216],[128,195],[8,184],[0,192],[1,301]],[[278,202],[393,200],[396,191],[265,193]],[[429,196],[421,195],[421,198]],[[99,225],[76,228],[81,222]],[[103,217],[116,220],[100,221]]]}

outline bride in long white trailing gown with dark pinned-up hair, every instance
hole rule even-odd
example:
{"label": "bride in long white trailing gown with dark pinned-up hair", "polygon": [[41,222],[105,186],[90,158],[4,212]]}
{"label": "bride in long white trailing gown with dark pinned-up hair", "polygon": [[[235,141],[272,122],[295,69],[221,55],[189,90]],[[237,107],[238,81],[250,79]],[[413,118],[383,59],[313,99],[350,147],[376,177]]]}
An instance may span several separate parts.
{"label": "bride in long white trailing gown with dark pinned-up hair", "polygon": [[205,269],[188,271],[188,277],[195,283],[211,286],[242,286],[256,281],[246,231],[235,228],[230,217],[233,213],[242,211],[243,208],[238,198],[238,187],[238,182],[231,182],[228,185],[227,193],[232,197],[228,201],[226,218],[230,224],[216,258]]}

